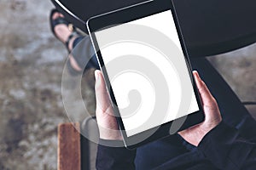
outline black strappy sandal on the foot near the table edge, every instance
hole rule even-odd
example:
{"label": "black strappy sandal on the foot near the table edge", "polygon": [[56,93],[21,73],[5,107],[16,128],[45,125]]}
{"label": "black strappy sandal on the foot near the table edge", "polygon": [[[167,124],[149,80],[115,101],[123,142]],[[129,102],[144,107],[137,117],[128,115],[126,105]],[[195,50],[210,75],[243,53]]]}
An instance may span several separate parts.
{"label": "black strappy sandal on the foot near the table edge", "polygon": [[[67,22],[67,20],[65,20],[65,18],[63,18],[63,17],[58,17],[58,18],[56,18],[55,20],[53,20],[52,17],[53,17],[53,15],[54,15],[55,13],[60,13],[60,12],[59,12],[56,8],[54,8],[54,9],[51,10],[51,12],[50,12],[50,14],[49,14],[49,25],[50,25],[50,29],[51,29],[52,33],[55,35],[55,37],[56,37],[58,40],[60,40],[60,41],[61,41],[61,39],[60,39],[59,37],[57,37],[57,35],[56,35],[56,33],[55,33],[55,26],[60,25],[60,24],[64,24],[64,25],[66,25],[66,26],[68,27],[68,29],[69,29],[70,31],[72,31],[72,34],[67,38],[67,41],[66,41],[66,42],[63,42],[64,45],[65,45],[66,48],[67,48],[68,53],[70,53],[71,51],[70,51],[69,48],[68,48],[68,44],[69,44],[70,40],[71,40],[73,37],[75,37],[75,36],[79,37],[80,34],[79,34],[78,31],[76,31],[76,28],[75,28],[71,23],[69,23],[69,22]],[[61,41],[61,42],[62,42],[62,41]]]}

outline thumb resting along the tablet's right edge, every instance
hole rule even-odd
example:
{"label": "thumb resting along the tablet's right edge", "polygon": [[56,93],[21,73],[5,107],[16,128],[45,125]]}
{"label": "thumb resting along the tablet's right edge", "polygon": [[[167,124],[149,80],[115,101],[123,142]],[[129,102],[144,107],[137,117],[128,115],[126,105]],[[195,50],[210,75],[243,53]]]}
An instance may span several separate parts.
{"label": "thumb resting along the tablet's right edge", "polygon": [[207,104],[211,105],[213,101],[213,97],[209,89],[207,88],[206,83],[201,80],[201,77],[199,76],[197,71],[193,71],[193,75],[195,77],[195,83],[197,85],[197,88],[199,90],[203,103],[205,105]]}

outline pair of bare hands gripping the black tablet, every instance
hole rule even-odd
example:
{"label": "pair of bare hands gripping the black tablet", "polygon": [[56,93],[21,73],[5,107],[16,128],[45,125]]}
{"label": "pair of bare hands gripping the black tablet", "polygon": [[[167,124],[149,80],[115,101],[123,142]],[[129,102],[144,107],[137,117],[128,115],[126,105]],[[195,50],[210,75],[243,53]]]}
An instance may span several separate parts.
{"label": "pair of bare hands gripping the black tablet", "polygon": [[[109,114],[113,110],[111,109],[110,100],[107,96],[108,92],[105,82],[103,82],[102,72],[96,71],[95,74],[96,103],[97,105],[104,105],[106,109],[105,111],[102,111],[101,108],[97,108],[96,110],[96,117],[100,127],[100,138],[106,140],[122,140],[116,119],[113,115]],[[179,134],[190,144],[197,146],[201,142],[201,139],[222,121],[222,118],[216,100],[212,97],[212,94],[209,92],[205,83],[201,81],[198,72],[194,71],[193,74],[197,87],[200,89],[202,102],[204,103],[203,107],[206,114],[206,120],[201,122],[201,124],[183,130]],[[106,112],[107,110],[108,112]]]}

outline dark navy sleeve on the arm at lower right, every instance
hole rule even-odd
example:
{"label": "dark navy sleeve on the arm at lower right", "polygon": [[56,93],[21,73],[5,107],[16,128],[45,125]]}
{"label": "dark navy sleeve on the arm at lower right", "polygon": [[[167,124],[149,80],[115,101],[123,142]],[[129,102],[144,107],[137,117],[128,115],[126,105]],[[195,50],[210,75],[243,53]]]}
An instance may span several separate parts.
{"label": "dark navy sleeve on the arm at lower right", "polygon": [[208,133],[198,149],[221,169],[256,169],[256,143],[224,123]]}

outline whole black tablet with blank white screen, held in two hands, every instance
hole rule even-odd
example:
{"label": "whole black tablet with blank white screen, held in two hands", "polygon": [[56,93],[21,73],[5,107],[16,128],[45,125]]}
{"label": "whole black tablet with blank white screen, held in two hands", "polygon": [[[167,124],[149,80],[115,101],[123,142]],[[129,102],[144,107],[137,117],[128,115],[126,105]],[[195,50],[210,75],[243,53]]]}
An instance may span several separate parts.
{"label": "whole black tablet with blank white screen, held in two hands", "polygon": [[129,149],[204,121],[171,1],[148,1],[87,21]]}

